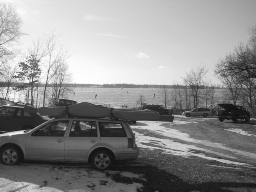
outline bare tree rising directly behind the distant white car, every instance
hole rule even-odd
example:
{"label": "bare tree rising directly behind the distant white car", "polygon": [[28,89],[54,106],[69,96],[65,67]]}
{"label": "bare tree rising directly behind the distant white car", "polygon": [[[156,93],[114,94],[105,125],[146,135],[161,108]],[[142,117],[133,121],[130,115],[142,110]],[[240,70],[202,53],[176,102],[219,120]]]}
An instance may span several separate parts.
{"label": "bare tree rising directly behind the distant white car", "polygon": [[194,107],[197,107],[201,96],[200,87],[203,86],[204,76],[208,72],[205,66],[198,66],[186,72],[186,77],[183,78],[186,84],[190,87],[190,94],[194,98]]}

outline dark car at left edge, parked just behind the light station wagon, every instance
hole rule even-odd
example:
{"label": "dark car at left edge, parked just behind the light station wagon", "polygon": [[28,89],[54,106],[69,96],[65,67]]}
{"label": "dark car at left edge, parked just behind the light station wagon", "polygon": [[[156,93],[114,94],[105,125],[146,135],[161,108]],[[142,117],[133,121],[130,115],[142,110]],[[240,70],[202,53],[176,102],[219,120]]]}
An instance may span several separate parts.
{"label": "dark car at left edge, parked just behind the light station wagon", "polygon": [[50,118],[41,116],[28,104],[0,106],[0,133],[32,129],[48,120]]}

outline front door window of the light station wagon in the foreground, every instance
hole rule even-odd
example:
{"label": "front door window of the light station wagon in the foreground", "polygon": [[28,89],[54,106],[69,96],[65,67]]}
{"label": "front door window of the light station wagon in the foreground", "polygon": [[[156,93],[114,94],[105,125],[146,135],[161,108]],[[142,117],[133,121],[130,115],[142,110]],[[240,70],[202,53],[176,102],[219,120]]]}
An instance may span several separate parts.
{"label": "front door window of the light station wagon in the foreground", "polygon": [[51,122],[32,133],[32,136],[64,136],[68,123],[68,120]]}

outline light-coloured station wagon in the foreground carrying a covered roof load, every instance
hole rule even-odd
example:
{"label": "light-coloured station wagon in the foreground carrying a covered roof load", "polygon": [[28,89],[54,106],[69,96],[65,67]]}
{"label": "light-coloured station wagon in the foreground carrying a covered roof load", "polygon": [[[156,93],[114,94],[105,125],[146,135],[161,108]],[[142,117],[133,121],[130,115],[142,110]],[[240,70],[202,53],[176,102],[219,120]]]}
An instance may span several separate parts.
{"label": "light-coloured station wagon in the foreground carrying a covered roof load", "polygon": [[129,124],[110,118],[55,118],[25,131],[0,134],[0,161],[23,159],[90,163],[109,169],[115,160],[134,160],[139,150]]}

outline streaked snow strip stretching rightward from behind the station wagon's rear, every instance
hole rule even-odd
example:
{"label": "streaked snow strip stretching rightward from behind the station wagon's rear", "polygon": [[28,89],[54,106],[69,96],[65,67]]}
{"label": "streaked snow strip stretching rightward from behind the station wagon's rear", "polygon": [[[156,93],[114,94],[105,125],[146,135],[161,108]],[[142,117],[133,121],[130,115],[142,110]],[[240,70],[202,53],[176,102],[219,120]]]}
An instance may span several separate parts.
{"label": "streaked snow strip stretching rightward from behind the station wagon's rear", "polygon": [[[200,152],[216,154],[224,158],[230,158],[234,160],[237,159],[236,157],[231,155],[223,154],[220,152],[216,152],[214,150],[208,150],[208,149],[196,146],[196,145],[199,145],[199,146],[202,145],[202,146],[211,147],[213,149],[215,148],[217,151],[227,150],[229,152],[232,152],[234,155],[242,154],[243,156],[247,156],[249,158],[256,158],[256,154],[254,153],[244,152],[244,151],[236,150],[233,148],[228,148],[225,146],[225,144],[221,144],[221,143],[214,143],[208,140],[194,139],[194,138],[191,138],[190,135],[187,133],[181,132],[176,129],[172,129],[172,126],[177,126],[177,125],[183,126],[184,124],[186,124],[186,127],[189,127],[191,129],[196,128],[197,126],[197,123],[194,121],[178,120],[175,122],[164,123],[164,124],[162,122],[144,121],[143,126],[140,126],[139,124],[138,126],[133,126],[134,128],[144,130],[144,133],[138,133],[134,131],[134,133],[136,133],[135,134],[136,143],[141,148],[148,148],[152,150],[162,150],[163,153],[183,156],[186,158],[190,158],[191,156],[197,156],[200,158],[216,160],[216,161],[227,163],[227,164],[248,166],[248,164],[245,164],[245,163],[225,160],[222,158],[213,158],[203,153],[194,153],[193,151],[196,150]],[[154,132],[154,134],[158,134],[158,137],[152,138],[150,132]],[[186,141],[187,144],[184,144],[184,141]]]}

